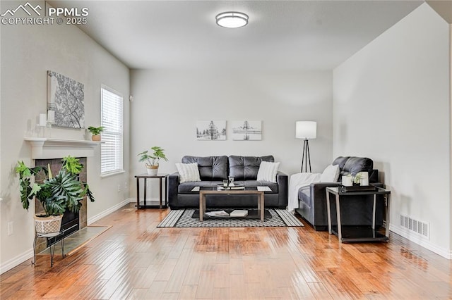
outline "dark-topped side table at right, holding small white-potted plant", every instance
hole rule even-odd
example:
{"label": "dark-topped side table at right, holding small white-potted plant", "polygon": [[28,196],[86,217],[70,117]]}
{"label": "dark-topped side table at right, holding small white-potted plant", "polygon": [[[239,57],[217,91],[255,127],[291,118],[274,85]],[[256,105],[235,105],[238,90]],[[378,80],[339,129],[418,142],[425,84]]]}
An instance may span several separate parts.
{"label": "dark-topped side table at right, holding small white-potted plant", "polygon": [[[331,225],[330,194],[335,195],[337,228]],[[339,242],[388,242],[389,240],[389,195],[388,189],[381,187],[369,187],[369,190],[355,190],[347,192],[341,187],[326,188],[326,209],[328,213],[328,232],[338,236]],[[347,196],[371,195],[373,199],[372,224],[371,226],[343,226],[340,220],[340,201],[347,201]],[[386,232],[381,234],[375,230],[376,196],[385,197]],[[369,197],[370,198],[370,197]],[[366,200],[363,200],[366,201]]]}

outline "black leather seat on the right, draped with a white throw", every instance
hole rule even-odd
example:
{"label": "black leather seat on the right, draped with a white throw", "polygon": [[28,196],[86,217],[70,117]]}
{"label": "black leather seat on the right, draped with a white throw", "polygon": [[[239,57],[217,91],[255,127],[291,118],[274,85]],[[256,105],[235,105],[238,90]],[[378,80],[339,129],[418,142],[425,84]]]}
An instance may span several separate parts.
{"label": "black leather seat on the right, draped with a white throw", "polygon": [[[369,183],[382,187],[378,181],[378,170],[374,169],[374,162],[370,158],[356,156],[339,156],[333,161],[333,165],[339,165],[340,175],[338,182],[311,183],[298,191],[299,208],[295,211],[307,220],[315,230],[327,230],[328,219],[326,215],[326,187],[338,187],[342,175],[356,175],[358,172],[369,172]],[[343,225],[370,225],[372,202],[365,201],[369,196],[347,196],[340,206]],[[331,222],[336,223],[334,197],[330,197]],[[364,201],[363,201],[364,200]],[[383,224],[384,199],[379,196],[376,203],[376,226]]]}

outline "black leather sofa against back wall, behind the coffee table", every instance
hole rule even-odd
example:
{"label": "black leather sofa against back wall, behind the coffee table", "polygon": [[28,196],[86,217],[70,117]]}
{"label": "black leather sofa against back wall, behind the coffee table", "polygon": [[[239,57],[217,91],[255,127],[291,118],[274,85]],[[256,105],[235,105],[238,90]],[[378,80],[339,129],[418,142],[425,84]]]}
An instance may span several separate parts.
{"label": "black leather sofa against back wall, behind the coffee table", "polygon": [[[257,173],[262,161],[274,162],[273,156],[184,156],[182,163],[198,163],[201,181],[179,183],[179,173],[172,173],[167,180],[168,204],[172,209],[199,207],[199,194],[194,187],[216,187],[228,176],[246,187],[267,186],[265,206],[287,207],[288,176],[278,172],[276,182],[258,181]],[[256,207],[256,195],[207,195],[206,206],[216,208]]]}

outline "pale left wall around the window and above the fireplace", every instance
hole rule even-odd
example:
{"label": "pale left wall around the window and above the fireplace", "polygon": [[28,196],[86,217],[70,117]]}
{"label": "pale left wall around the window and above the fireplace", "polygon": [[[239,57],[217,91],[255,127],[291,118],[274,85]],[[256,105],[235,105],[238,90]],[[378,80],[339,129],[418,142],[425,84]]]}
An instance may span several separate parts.
{"label": "pale left wall around the window and above the fireplace", "polygon": [[[8,3],[15,8],[22,2]],[[2,5],[5,11],[6,5]],[[30,135],[39,113],[46,111],[47,70],[85,85],[85,126],[100,125],[100,86],[124,94],[125,131],[129,132],[129,69],[105,49],[71,25],[1,25],[1,272],[32,255],[34,208],[20,204],[18,178],[13,171],[18,160],[31,165]],[[85,139],[85,130],[54,129],[52,137]],[[88,221],[102,215],[129,197],[118,193],[129,174],[129,143],[124,143],[126,173],[100,178],[100,147],[88,158],[88,183],[97,201],[88,201]],[[13,222],[13,235],[7,223]]]}

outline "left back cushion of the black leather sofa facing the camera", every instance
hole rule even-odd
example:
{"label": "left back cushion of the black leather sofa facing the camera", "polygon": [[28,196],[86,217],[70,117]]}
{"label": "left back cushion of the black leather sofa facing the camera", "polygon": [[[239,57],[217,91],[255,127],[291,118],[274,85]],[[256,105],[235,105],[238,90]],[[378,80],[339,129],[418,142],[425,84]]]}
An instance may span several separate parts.
{"label": "left back cushion of the black leather sofa facing the camera", "polygon": [[227,156],[184,156],[182,163],[198,163],[201,180],[227,179]]}

